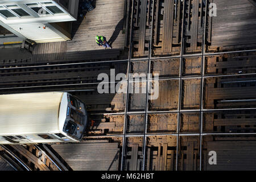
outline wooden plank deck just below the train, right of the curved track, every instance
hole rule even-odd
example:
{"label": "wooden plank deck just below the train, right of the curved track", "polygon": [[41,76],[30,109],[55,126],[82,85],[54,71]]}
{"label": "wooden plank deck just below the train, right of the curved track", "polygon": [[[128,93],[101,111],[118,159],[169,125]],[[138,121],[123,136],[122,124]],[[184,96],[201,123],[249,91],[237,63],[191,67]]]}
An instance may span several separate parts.
{"label": "wooden plank deck just below the train, right of the curved track", "polygon": [[51,147],[74,171],[118,170],[118,143],[53,144]]}

